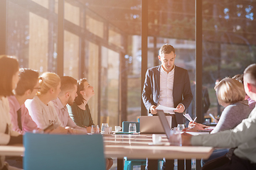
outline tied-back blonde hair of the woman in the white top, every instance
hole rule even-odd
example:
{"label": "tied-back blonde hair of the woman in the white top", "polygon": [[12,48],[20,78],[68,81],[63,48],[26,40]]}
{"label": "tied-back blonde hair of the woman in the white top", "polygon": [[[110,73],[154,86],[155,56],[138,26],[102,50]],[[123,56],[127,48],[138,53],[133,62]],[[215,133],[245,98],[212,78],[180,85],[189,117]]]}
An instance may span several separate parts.
{"label": "tied-back blonde hair of the woman in the white top", "polygon": [[53,72],[44,72],[41,77],[39,77],[39,86],[41,90],[38,94],[46,94],[50,88],[56,89],[60,84],[60,77]]}

